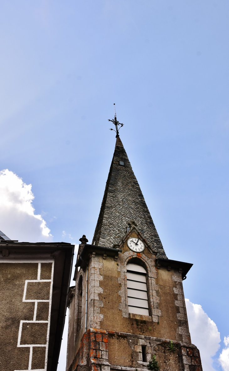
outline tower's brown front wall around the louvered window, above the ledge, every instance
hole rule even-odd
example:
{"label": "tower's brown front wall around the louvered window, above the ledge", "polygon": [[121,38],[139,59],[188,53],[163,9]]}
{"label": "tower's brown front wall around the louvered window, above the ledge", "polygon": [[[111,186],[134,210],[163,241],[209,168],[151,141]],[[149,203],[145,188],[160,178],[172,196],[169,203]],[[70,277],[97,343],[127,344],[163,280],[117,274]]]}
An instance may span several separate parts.
{"label": "tower's brown front wall around the louvered window, above the ledge", "polygon": [[[136,229],[129,236],[137,236]],[[156,255],[147,246],[136,254],[126,242],[127,238],[117,260],[99,254],[91,257],[89,277],[94,280],[89,279],[88,328],[133,332],[191,344],[181,273],[173,268],[158,269]],[[149,316],[128,311],[126,265],[133,259],[147,272]]]}

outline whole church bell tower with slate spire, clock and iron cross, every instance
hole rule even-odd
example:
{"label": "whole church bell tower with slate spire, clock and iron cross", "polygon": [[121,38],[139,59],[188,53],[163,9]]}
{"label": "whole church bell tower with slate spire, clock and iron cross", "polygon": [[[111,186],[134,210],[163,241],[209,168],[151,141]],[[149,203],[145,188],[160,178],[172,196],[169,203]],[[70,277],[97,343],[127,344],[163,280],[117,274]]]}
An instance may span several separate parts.
{"label": "whole church bell tower with slate spire, clock and iron cross", "polygon": [[202,371],[182,280],[192,264],[165,255],[116,127],[93,241],[83,236],[68,296],[67,371]]}

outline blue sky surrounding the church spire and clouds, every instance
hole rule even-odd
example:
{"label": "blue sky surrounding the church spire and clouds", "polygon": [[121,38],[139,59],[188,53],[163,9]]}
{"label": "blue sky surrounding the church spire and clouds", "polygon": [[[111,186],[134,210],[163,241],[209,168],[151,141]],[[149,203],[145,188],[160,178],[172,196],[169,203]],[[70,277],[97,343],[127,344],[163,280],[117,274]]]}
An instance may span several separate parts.
{"label": "blue sky surrounding the church spire and clouds", "polygon": [[165,252],[194,263],[185,296],[220,332],[214,370],[229,370],[217,361],[229,335],[228,18],[226,0],[0,4],[0,170],[32,184],[54,241],[91,242],[116,103]]}

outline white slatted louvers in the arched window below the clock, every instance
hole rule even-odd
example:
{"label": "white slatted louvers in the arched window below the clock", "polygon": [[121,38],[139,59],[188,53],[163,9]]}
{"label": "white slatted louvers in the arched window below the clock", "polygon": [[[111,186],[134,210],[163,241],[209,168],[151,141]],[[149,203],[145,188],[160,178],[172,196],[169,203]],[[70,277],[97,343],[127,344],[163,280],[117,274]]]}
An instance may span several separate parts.
{"label": "white slatted louvers in the arched window below the clock", "polygon": [[149,315],[146,270],[137,264],[126,265],[129,313]]}

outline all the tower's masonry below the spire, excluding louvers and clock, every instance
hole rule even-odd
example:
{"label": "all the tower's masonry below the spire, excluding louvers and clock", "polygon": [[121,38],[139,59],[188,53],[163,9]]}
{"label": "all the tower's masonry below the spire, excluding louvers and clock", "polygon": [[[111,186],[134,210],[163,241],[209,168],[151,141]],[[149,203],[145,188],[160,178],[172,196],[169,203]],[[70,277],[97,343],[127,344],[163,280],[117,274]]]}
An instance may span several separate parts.
{"label": "all the tower's masonry below the spire, excluding louvers and clock", "polygon": [[[127,240],[132,237],[143,240],[142,253],[128,248]],[[95,246],[93,251],[94,246],[90,245],[83,257],[88,265],[84,263],[84,269],[77,272],[75,292],[82,276],[84,300],[88,267],[87,331],[84,332],[82,322],[67,370],[142,371],[155,354],[161,371],[201,371],[199,351],[191,344],[188,329],[182,269],[176,265],[157,265],[157,252],[136,226],[125,234],[120,247],[122,253],[117,251],[116,255],[113,249],[109,255],[109,249],[99,250]],[[126,282],[129,262],[142,265],[147,272],[149,316],[129,313]],[[74,305],[77,308],[77,300]],[[85,313],[85,306],[83,310]],[[74,323],[77,321],[76,316]],[[171,340],[174,352],[168,349]],[[143,362],[142,347],[146,347],[147,362]]]}

